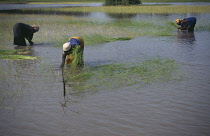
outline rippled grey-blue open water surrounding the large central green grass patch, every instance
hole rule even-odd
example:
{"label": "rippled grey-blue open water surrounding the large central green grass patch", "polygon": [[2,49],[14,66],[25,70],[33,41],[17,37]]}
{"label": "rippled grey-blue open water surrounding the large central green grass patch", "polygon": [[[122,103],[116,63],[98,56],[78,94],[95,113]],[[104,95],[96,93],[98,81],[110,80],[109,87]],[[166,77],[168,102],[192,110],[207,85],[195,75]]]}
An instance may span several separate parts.
{"label": "rippled grey-blue open water surrounding the large central green grass patch", "polygon": [[[203,17],[198,16],[199,20]],[[0,74],[1,98],[5,98],[0,105],[0,134],[207,136],[210,134],[209,35],[208,31],[177,32],[175,36],[141,36],[85,46],[87,66],[161,56],[180,64],[183,79],[141,88],[127,86],[68,94],[65,100],[59,68],[61,48],[36,44],[31,53],[41,60],[0,60],[0,69],[4,71]],[[66,89],[71,92],[70,86]]]}

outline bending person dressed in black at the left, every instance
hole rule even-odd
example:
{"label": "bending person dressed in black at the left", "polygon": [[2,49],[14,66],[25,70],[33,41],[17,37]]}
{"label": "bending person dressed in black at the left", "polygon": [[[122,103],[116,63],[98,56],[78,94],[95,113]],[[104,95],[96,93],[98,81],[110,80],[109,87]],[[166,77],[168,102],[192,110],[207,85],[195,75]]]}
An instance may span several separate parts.
{"label": "bending person dressed in black at the left", "polygon": [[13,26],[14,33],[14,45],[26,46],[25,38],[28,40],[30,45],[33,45],[32,42],[33,34],[39,31],[39,26],[37,25],[27,25],[24,23],[17,23]]}

